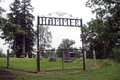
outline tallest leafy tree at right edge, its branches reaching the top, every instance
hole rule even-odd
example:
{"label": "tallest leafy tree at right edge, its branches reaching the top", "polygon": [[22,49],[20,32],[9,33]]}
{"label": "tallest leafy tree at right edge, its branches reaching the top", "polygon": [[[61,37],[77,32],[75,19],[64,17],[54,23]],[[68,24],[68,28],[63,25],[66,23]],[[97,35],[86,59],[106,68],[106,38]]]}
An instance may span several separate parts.
{"label": "tallest leafy tree at right edge, its branches reaching the top", "polygon": [[[103,44],[104,57],[112,57],[112,48],[120,45],[120,1],[119,0],[88,0],[87,7],[93,9],[96,18],[101,20],[101,32],[97,32],[95,38]],[[98,28],[96,28],[97,30]]]}

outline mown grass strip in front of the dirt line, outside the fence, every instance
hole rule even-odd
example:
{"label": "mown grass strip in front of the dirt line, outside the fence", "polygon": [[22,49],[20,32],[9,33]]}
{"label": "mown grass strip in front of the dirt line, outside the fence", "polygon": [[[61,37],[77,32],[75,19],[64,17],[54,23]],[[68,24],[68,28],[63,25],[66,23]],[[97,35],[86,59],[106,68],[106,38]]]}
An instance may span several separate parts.
{"label": "mown grass strip in front of the dirt line, outside the fence", "polygon": [[15,80],[120,80],[120,64],[107,60],[98,67],[89,71],[70,74],[28,75],[10,71],[18,75]]}

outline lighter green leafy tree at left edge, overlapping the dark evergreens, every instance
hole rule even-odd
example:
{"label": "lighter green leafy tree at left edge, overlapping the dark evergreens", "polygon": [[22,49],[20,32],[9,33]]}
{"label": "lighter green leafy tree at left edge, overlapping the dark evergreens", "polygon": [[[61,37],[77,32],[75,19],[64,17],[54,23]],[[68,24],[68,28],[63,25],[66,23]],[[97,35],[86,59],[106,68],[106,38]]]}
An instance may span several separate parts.
{"label": "lighter green leafy tree at left edge, overlapping the dark evergreens", "polygon": [[2,12],[4,11],[5,10],[0,7],[0,29],[2,31],[0,38],[5,39],[5,44],[9,43],[9,45],[11,45],[15,38],[14,34],[24,33],[24,31],[21,30],[19,25],[13,24],[8,19],[3,18]]}

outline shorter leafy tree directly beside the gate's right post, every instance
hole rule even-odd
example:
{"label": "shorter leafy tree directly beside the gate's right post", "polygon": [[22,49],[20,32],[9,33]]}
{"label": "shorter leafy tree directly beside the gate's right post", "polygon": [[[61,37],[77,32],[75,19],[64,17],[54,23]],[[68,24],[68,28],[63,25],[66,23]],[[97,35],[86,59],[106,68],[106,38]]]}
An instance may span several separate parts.
{"label": "shorter leafy tree directly beside the gate's right post", "polygon": [[89,49],[89,53],[96,50],[97,58],[102,58],[101,54],[104,54],[105,35],[100,35],[100,33],[103,33],[103,27],[103,21],[100,19],[92,19],[87,25],[83,26],[84,47]]}

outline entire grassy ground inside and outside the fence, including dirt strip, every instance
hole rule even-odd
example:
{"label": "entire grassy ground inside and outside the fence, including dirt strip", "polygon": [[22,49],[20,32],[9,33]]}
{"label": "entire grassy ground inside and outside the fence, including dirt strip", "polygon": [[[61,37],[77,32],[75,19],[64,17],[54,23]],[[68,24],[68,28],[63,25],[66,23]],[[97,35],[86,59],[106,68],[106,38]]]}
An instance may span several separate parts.
{"label": "entire grassy ground inside and outside the fence, including dirt strip", "polygon": [[[43,59],[40,62],[40,69],[43,74],[36,73],[37,61],[35,58],[10,58],[10,69],[7,69],[7,59],[0,58],[0,80],[8,77],[10,80],[119,80],[120,64],[109,60],[97,59],[94,65],[93,59],[87,59],[87,71],[83,71],[82,59],[76,59],[72,63],[64,63],[64,70],[61,67],[61,59],[56,62],[49,62]],[[79,68],[79,69],[78,69]],[[2,75],[2,74],[3,75]],[[5,75],[6,76],[5,76]],[[2,77],[1,77],[2,76]],[[7,79],[7,80],[9,80]]]}

